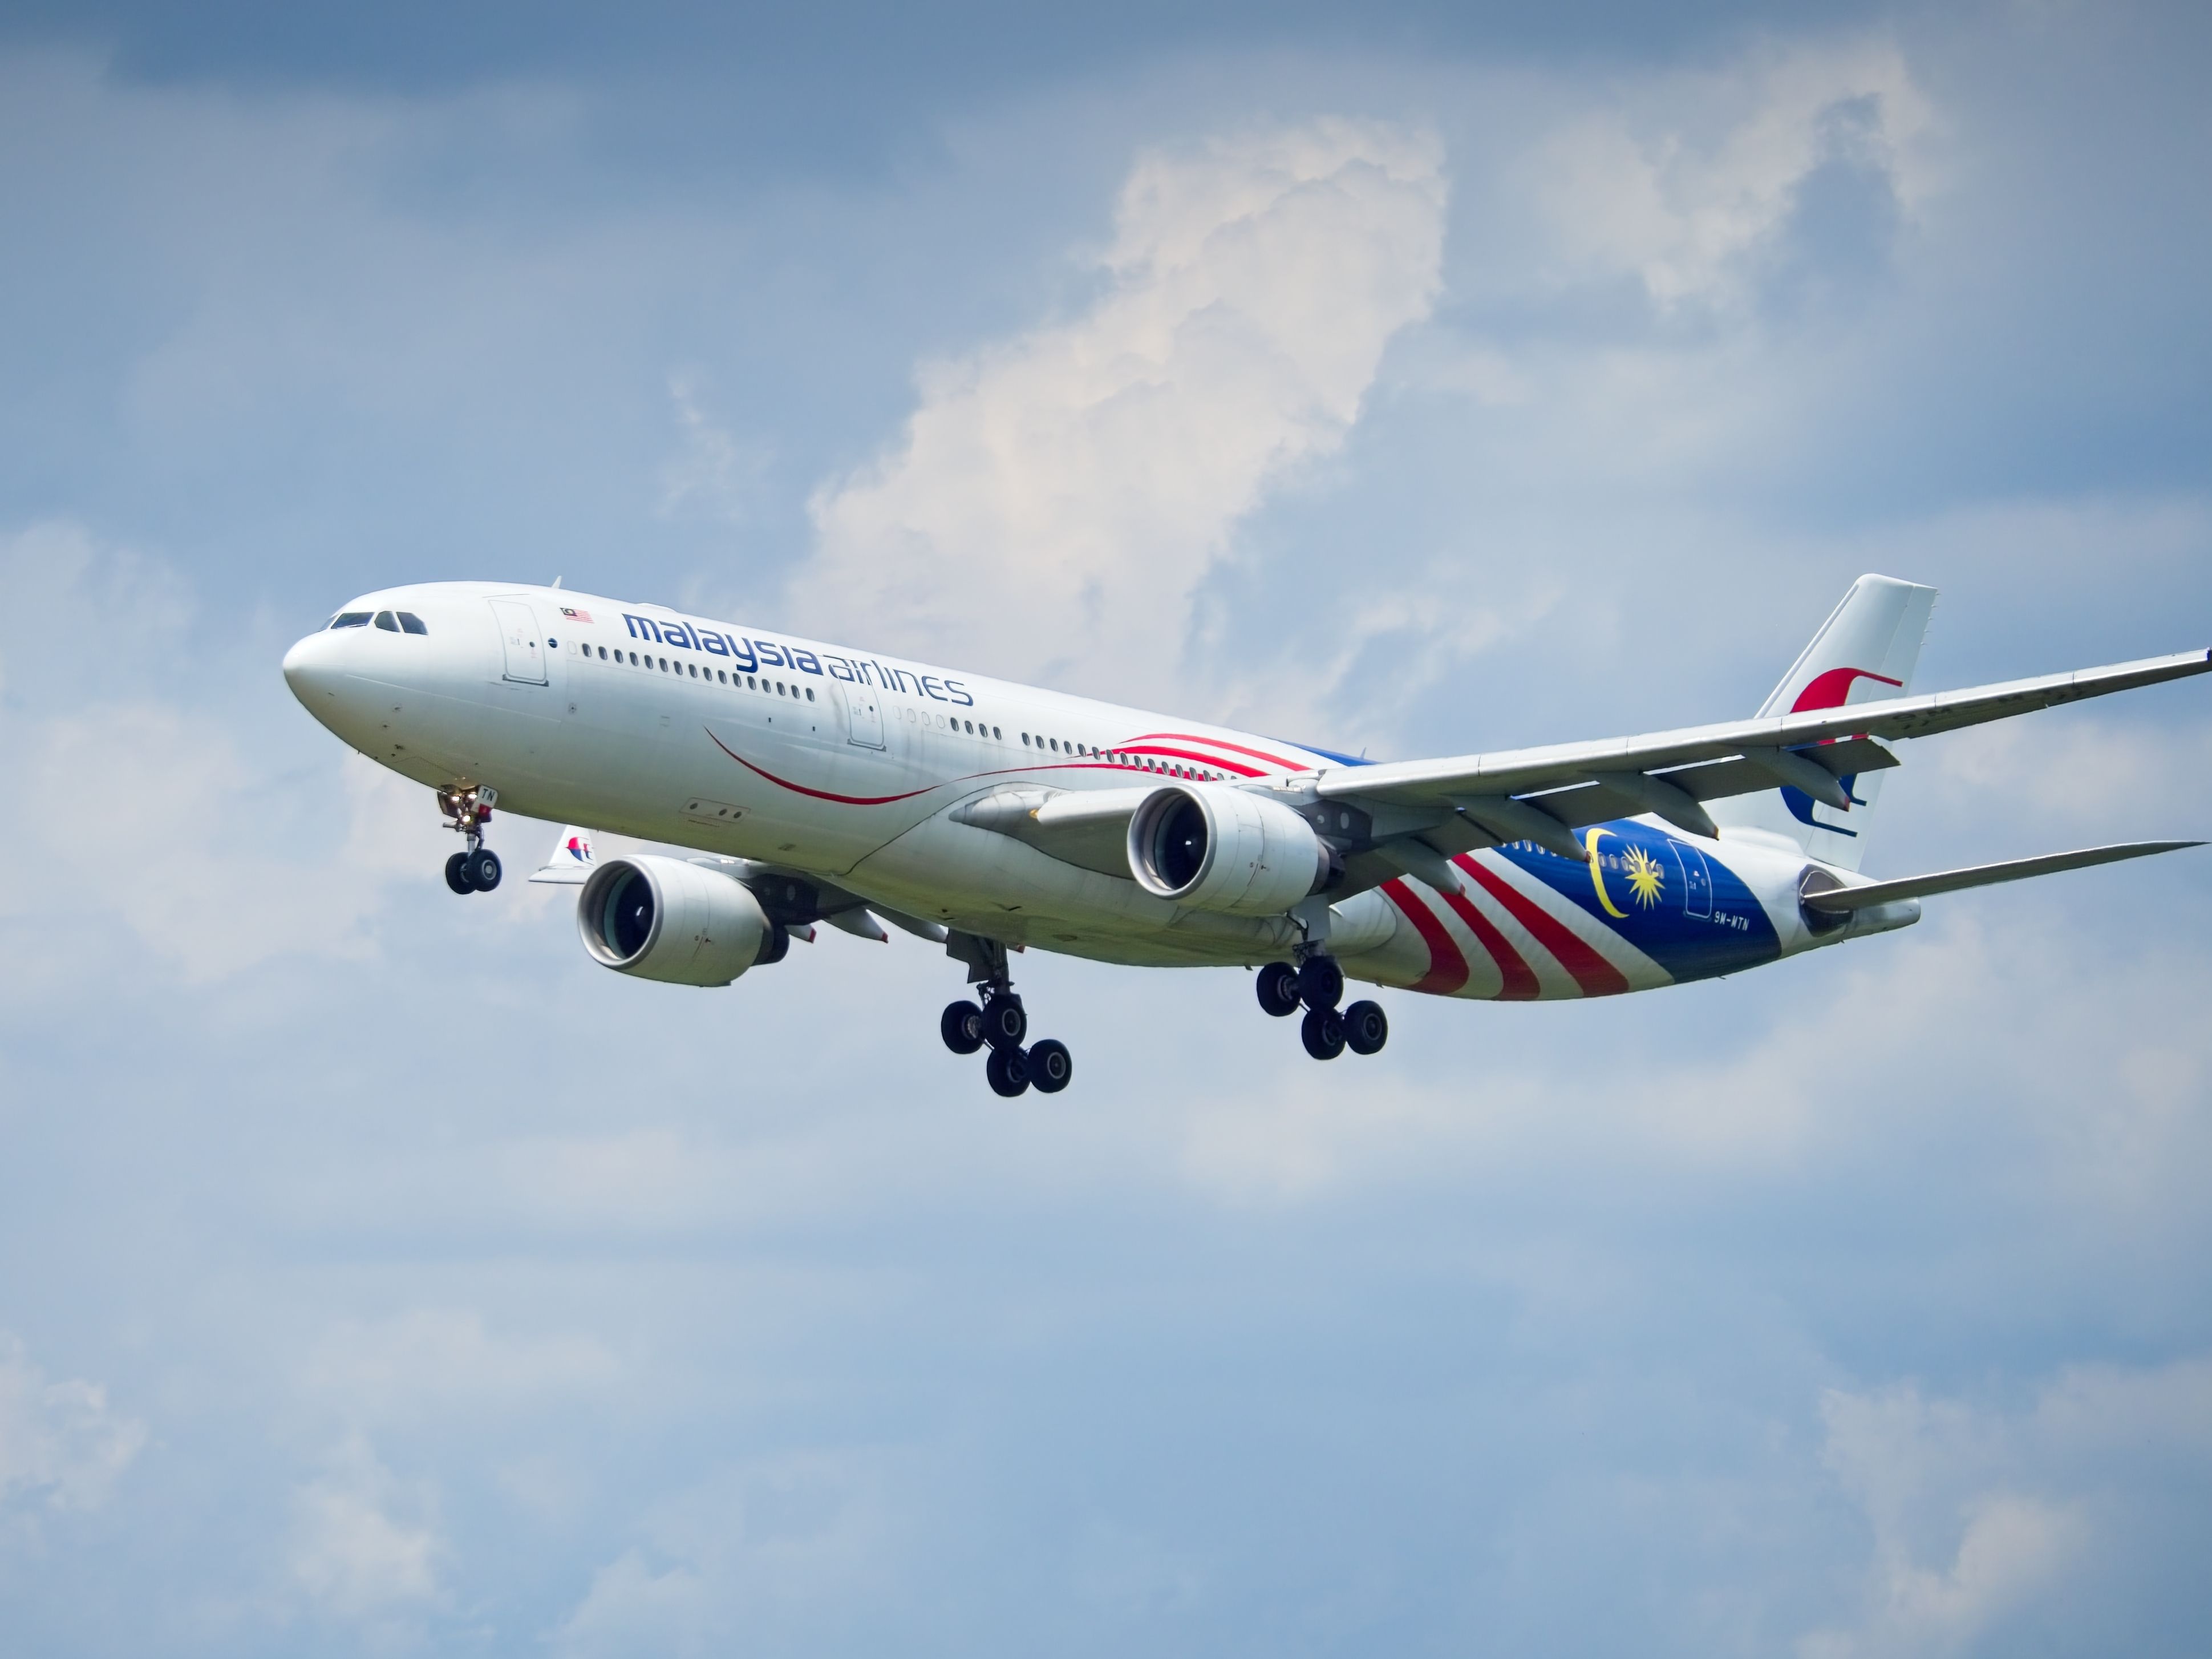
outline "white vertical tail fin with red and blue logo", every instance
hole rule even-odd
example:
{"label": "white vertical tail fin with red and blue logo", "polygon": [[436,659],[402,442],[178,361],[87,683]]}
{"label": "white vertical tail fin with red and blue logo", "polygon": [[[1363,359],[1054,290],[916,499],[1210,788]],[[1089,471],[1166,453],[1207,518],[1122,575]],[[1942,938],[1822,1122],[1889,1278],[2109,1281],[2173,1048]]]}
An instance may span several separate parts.
{"label": "white vertical tail fin with red and blue logo", "polygon": [[[1891,575],[1858,577],[1783,675],[1783,684],[1761,703],[1759,717],[1907,695],[1933,611],[1936,588]],[[1794,841],[1823,863],[1858,869],[1880,783],[1880,772],[1843,779],[1851,805],[1840,814],[1783,787],[1714,801],[1712,816],[1723,830],[1759,830]]]}

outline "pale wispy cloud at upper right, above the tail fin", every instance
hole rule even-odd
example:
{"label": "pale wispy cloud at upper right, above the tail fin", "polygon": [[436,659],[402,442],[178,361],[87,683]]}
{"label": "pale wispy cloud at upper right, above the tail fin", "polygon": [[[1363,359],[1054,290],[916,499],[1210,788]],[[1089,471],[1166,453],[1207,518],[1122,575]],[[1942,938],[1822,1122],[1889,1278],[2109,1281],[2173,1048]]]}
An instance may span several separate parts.
{"label": "pale wispy cloud at upper right, above the tail fin", "polygon": [[1816,168],[1880,175],[1911,215],[1936,184],[1936,111],[1889,42],[1798,46],[1657,77],[1555,133],[1531,190],[1566,257],[1663,307],[1739,299]]}

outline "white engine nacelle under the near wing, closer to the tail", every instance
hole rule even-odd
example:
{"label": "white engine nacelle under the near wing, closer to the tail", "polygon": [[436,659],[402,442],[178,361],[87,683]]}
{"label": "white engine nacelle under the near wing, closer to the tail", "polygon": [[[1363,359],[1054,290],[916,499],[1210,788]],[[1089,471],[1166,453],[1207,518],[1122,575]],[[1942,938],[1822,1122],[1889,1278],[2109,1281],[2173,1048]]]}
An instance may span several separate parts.
{"label": "white engine nacelle under the near wing, closer to the tail", "polygon": [[1155,790],[1128,821],[1128,872],[1155,898],[1281,916],[1329,885],[1336,858],[1281,801],[1208,783]]}

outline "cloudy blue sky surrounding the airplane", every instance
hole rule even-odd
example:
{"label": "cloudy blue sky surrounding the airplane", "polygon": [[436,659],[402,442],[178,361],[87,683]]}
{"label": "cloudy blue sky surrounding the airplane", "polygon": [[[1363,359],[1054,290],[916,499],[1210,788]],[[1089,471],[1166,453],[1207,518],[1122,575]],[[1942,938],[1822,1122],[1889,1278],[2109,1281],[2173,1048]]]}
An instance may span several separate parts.
{"label": "cloudy blue sky surrounding the airplane", "polygon": [[[1374,757],[2212,646],[2201,9],[11,4],[0,1648],[2194,1655],[2212,854],[1628,1000],[453,900],[290,697],[551,582]],[[2212,830],[2181,684],[1867,869]],[[502,818],[520,872],[553,825]]]}

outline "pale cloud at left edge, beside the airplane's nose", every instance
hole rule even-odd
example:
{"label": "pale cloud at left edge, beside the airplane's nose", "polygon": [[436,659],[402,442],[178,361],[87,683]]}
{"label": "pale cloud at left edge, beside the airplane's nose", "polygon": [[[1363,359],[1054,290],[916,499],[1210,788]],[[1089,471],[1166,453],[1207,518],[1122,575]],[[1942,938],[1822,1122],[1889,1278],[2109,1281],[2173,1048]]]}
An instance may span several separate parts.
{"label": "pale cloud at left edge, beside the airplane's nose", "polygon": [[[237,710],[195,697],[195,599],[166,560],[42,522],[0,535],[0,584],[24,597],[0,619],[15,681],[0,765],[33,807],[15,818],[20,852],[44,872],[0,887],[0,918],[69,918],[49,933],[46,971],[80,949],[86,916],[188,984],[374,951],[389,885],[447,852],[425,790],[334,741],[321,794],[285,787],[265,745],[241,741]],[[97,659],[73,648],[93,637]],[[334,825],[325,805],[343,814]],[[303,821],[314,832],[294,834]]]}

